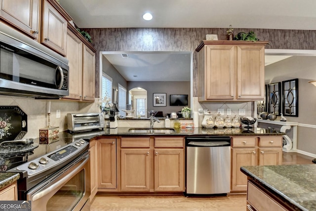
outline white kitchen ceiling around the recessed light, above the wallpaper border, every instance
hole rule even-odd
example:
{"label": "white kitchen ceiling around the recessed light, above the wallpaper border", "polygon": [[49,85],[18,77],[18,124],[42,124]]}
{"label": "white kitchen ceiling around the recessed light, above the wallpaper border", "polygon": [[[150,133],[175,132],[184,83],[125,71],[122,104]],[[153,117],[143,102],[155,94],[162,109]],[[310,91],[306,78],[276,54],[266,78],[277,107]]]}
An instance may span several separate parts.
{"label": "white kitchen ceiling around the recessed light, above the wallpaper border", "polygon": [[[316,30],[316,0],[60,0],[79,28]],[[143,20],[151,12],[151,21]]]}

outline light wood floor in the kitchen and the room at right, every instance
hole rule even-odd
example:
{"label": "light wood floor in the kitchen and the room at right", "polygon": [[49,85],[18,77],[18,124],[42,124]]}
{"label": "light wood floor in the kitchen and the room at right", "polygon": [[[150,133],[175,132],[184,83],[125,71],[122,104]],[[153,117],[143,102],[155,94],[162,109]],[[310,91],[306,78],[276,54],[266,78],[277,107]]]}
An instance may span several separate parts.
{"label": "light wood floor in the kitchen and the room at right", "polygon": [[[313,164],[309,156],[283,153],[283,165]],[[246,195],[220,197],[97,195],[90,211],[245,211]]]}

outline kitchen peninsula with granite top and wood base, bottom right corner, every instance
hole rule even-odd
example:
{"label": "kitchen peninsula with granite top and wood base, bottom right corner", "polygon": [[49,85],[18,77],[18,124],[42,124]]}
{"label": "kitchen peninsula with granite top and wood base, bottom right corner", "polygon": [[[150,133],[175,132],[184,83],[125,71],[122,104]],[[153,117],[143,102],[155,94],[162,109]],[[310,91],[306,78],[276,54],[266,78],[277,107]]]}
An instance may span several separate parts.
{"label": "kitchen peninsula with granite top and wood base, bottom right corner", "polygon": [[316,165],[241,167],[249,210],[315,211]]}

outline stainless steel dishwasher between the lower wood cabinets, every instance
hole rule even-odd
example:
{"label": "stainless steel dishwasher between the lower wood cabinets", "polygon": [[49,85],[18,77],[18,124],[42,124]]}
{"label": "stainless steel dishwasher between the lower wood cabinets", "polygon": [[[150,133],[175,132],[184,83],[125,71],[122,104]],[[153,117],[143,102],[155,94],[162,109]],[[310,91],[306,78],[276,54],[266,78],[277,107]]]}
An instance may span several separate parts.
{"label": "stainless steel dishwasher between the lower wood cabinets", "polygon": [[186,195],[226,194],[231,189],[231,138],[186,138]]}

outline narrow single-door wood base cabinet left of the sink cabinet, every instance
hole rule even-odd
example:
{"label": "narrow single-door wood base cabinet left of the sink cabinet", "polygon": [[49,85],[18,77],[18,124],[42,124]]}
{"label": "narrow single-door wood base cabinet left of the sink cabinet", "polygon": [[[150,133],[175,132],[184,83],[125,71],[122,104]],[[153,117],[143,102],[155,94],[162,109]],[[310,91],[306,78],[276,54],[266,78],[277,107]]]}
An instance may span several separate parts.
{"label": "narrow single-door wood base cabinet left of the sink cabinet", "polygon": [[117,188],[117,139],[97,139],[98,189]]}

